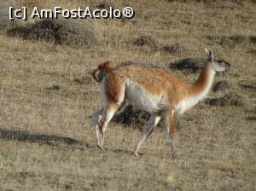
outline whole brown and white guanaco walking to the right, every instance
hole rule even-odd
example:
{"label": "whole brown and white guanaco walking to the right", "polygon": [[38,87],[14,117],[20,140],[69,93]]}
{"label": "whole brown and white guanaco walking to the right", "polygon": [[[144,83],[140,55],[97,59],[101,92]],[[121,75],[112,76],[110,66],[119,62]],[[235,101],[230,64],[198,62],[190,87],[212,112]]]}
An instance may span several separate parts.
{"label": "whole brown and white guanaco walking to the right", "polygon": [[211,49],[206,49],[205,53],[207,61],[199,78],[192,84],[160,68],[137,65],[111,67],[109,61],[100,64],[92,73],[93,78],[101,83],[102,92],[102,109],[91,116],[96,124],[97,147],[103,148],[104,132],[113,114],[130,104],[151,114],[134,154],[137,156],[138,149],[163,117],[171,142],[172,156],[176,157],[173,145],[174,113],[182,114],[206,97],[215,72],[231,69],[230,63],[222,58],[215,58]]}

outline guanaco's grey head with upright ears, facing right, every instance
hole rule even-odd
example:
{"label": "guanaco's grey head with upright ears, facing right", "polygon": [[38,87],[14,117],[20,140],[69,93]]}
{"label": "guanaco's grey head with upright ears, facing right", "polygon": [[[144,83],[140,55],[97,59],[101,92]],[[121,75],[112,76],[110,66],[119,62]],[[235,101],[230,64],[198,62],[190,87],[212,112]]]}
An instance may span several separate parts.
{"label": "guanaco's grey head with upright ears, facing right", "polygon": [[230,63],[224,61],[223,58],[215,58],[211,49],[206,49],[206,55],[208,57],[208,61],[211,62],[212,68],[215,70],[215,72],[230,72]]}

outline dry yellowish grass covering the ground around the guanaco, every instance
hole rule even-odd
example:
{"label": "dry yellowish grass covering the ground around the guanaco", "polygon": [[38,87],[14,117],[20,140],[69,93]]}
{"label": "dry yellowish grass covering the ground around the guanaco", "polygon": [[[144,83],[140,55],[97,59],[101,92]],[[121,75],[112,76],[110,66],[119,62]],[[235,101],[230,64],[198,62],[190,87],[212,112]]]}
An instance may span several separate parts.
{"label": "dry yellowish grass covering the ground around the guanaco", "polygon": [[[47,8],[59,5],[30,2]],[[72,9],[79,3],[100,4],[74,0],[61,1],[61,6]],[[239,0],[111,3],[116,8],[131,6],[135,18],[97,20],[100,43],[89,46],[8,37],[2,27],[0,190],[255,190],[255,42],[236,42],[232,37],[255,37],[256,4]],[[157,49],[133,43],[142,36],[154,39]],[[163,51],[162,47],[177,42],[183,44],[183,51],[174,55]],[[88,116],[101,101],[99,84],[88,73],[91,69],[106,60],[169,67],[183,58],[205,58],[205,48],[230,61],[233,72],[217,75],[215,81],[229,81],[230,92],[239,94],[246,107],[201,103],[177,116],[177,159],[172,159],[161,128],[148,138],[137,158],[131,155],[140,134],[135,125],[111,123],[107,150],[96,148]],[[198,75],[174,72],[189,81]],[[227,93],[218,90],[210,97]]]}

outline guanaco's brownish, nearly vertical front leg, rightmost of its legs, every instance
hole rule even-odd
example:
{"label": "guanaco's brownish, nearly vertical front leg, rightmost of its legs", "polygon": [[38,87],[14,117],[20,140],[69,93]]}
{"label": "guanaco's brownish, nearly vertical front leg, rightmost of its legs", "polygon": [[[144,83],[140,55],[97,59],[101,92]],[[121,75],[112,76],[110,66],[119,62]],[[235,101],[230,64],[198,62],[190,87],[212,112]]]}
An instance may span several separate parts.
{"label": "guanaco's brownish, nearly vertical front leg, rightmost of its legs", "polygon": [[173,136],[175,131],[173,113],[174,113],[174,110],[166,112],[165,121],[166,121],[167,136],[169,137],[169,140],[171,142],[172,157],[177,157],[177,154],[175,152],[174,145],[173,145]]}

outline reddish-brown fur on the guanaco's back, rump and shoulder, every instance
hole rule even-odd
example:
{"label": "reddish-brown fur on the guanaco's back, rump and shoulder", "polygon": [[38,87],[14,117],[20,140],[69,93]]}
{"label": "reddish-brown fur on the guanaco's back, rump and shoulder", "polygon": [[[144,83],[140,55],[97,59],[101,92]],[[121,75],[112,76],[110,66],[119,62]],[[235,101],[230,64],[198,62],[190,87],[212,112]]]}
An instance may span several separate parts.
{"label": "reddish-brown fur on the guanaco's back, rump and shoulder", "polygon": [[108,70],[108,75],[105,79],[106,93],[109,100],[119,100],[119,92],[126,78],[132,78],[152,95],[159,96],[167,92],[171,101],[169,103],[170,106],[175,106],[178,101],[189,96],[189,90],[192,89],[192,84],[184,82],[164,69],[140,67],[137,65],[115,67],[112,70]]}

